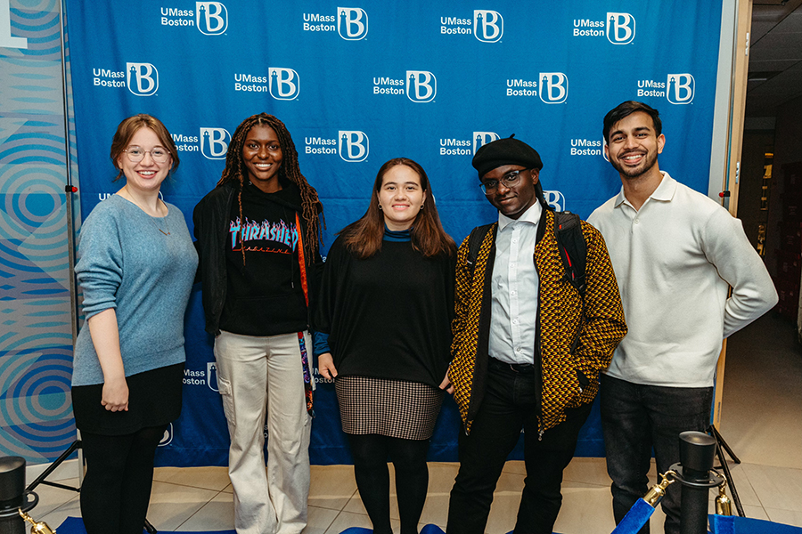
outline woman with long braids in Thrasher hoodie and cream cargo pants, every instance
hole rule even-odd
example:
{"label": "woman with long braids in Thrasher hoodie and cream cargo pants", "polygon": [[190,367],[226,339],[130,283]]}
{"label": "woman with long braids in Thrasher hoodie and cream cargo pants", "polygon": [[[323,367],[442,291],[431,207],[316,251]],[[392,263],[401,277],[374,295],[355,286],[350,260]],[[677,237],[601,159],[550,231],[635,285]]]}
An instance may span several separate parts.
{"label": "woman with long braids in Thrasher hoodie and cream cargo pants", "polygon": [[238,534],[298,534],[307,524],[309,310],[322,217],[290,132],[266,113],[237,127],[223,177],[192,214]]}

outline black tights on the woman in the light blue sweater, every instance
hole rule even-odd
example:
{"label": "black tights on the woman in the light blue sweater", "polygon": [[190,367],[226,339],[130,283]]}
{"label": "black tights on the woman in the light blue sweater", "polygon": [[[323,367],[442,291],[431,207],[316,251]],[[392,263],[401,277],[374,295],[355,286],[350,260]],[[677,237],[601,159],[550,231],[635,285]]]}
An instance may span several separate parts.
{"label": "black tights on the woman in the light blue sweater", "polygon": [[81,516],[87,534],[142,534],[153,484],[153,456],[165,426],[122,436],[81,433],[86,476]]}

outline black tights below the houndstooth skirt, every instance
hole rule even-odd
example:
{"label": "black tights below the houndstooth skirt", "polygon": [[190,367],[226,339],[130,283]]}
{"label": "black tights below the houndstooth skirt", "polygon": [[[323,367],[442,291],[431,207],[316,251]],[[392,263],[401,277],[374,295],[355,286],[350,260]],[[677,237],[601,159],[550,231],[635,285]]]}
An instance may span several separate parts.
{"label": "black tights below the houndstooth skirt", "polygon": [[392,534],[393,531],[389,522],[388,455],[396,468],[401,534],[418,534],[418,522],[429,489],[429,466],[426,465],[429,440],[348,434],[348,442],[354,457],[356,487],[371,517],[374,534]]}

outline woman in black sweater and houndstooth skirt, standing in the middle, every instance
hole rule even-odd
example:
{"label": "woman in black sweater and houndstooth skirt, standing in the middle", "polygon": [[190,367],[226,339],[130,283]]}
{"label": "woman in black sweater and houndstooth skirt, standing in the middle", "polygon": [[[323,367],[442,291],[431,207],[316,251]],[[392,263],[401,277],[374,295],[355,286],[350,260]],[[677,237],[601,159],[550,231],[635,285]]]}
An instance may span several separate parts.
{"label": "woman in black sweater and houndstooth skirt, standing in the middle", "polygon": [[330,352],[342,429],[373,531],[391,534],[388,456],[396,469],[402,534],[417,534],[429,484],[426,454],[448,386],[454,240],[429,178],[411,159],[379,169],[371,204],[331,245],[318,328]]}

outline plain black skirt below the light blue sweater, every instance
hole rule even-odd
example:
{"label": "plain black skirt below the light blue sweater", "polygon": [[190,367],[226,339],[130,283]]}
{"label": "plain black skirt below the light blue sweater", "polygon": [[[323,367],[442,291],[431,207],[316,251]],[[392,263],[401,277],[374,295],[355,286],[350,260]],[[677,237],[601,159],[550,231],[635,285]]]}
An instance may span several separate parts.
{"label": "plain black skirt below the light blue sweater", "polygon": [[126,382],[128,411],[118,412],[102,406],[103,384],[73,386],[72,409],[78,430],[119,436],[167,425],[181,414],[183,363],[127,376]]}

